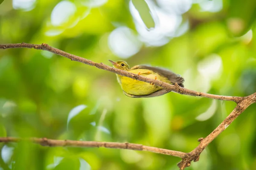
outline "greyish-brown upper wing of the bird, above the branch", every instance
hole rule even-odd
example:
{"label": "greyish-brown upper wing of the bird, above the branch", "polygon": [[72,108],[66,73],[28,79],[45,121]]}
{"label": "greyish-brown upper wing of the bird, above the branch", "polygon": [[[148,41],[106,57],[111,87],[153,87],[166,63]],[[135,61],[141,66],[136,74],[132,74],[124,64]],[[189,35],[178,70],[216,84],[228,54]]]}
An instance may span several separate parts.
{"label": "greyish-brown upper wing of the bird, above the branch", "polygon": [[148,65],[135,65],[134,67],[132,67],[130,70],[134,70],[134,69],[138,69],[138,68],[142,68],[142,69],[148,69],[148,70],[152,70],[155,73],[160,74],[163,77],[166,77],[167,79],[169,79],[173,84],[177,83],[178,85],[180,85],[181,87],[184,87],[183,82],[184,79],[183,77],[181,77],[179,74],[175,74],[172,71],[169,71],[167,69],[164,68],[159,68],[159,67],[152,67],[152,66],[148,66]]}

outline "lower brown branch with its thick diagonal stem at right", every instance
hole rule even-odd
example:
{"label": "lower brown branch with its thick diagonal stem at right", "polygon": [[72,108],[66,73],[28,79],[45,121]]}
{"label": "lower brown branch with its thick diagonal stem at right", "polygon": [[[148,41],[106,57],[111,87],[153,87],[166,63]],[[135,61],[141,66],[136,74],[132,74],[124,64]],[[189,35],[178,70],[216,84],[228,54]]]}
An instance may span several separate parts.
{"label": "lower brown branch with its thick diagonal stem at right", "polygon": [[54,140],[47,138],[30,138],[20,139],[15,137],[0,137],[0,142],[20,142],[21,140],[27,140],[42,146],[50,147],[105,147],[116,149],[128,149],[128,150],[142,150],[154,153],[160,153],[169,156],[180,157],[182,160],[178,163],[180,170],[189,167],[192,161],[198,161],[200,154],[221,132],[223,132],[246,108],[256,102],[256,93],[244,97],[244,100],[236,105],[236,108],[224,119],[221,124],[216,127],[206,138],[200,138],[198,141],[200,144],[194,150],[189,153],[184,153],[175,150],[162,149],[158,147],[144,146],[142,144],[133,143],[119,143],[119,142],[96,142],[96,141],[72,141],[72,140]]}

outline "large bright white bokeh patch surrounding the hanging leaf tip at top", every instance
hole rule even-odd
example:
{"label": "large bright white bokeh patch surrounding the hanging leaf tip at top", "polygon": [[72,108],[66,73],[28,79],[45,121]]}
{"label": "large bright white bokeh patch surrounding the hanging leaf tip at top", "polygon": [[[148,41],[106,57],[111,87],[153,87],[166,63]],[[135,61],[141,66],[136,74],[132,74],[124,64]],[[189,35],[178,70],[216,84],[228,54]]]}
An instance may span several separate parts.
{"label": "large bright white bokeh patch surrounding the hanging leaf tip at top", "polygon": [[[179,1],[159,1],[159,3],[160,6],[165,6],[165,8],[159,8],[154,3],[148,1],[148,7],[151,10],[151,15],[155,22],[155,27],[149,30],[143,23],[143,20],[132,1],[129,3],[136,29],[140,34],[140,40],[145,42],[145,45],[162,46],[168,43],[172,37],[177,37],[177,30],[182,22],[181,14],[191,7],[191,2],[186,0],[184,1],[184,4],[186,5],[183,6],[183,8]],[[177,7],[175,7],[175,5],[177,5]],[[169,10],[166,11],[168,6],[173,6],[173,8],[169,8]],[[184,26],[183,31],[179,32],[179,36],[185,33],[186,26],[188,25]]]}

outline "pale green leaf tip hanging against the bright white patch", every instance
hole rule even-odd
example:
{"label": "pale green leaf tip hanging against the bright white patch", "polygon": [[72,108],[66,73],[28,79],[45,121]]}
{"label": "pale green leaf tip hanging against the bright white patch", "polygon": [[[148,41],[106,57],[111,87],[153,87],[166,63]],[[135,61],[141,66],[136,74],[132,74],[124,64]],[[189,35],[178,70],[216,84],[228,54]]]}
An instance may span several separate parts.
{"label": "pale green leaf tip hanging against the bright white patch", "polygon": [[151,15],[151,11],[145,0],[132,0],[134,7],[139,11],[140,17],[143,20],[145,26],[149,28],[154,28],[155,23]]}

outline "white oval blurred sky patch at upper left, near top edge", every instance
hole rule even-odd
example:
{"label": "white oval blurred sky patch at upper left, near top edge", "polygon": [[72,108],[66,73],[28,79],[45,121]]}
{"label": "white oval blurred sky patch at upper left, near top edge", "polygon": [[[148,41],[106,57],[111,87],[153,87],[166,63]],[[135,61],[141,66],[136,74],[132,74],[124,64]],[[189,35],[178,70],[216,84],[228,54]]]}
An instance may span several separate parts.
{"label": "white oval blurred sky patch at upper left, near top edge", "polygon": [[52,10],[51,23],[53,26],[61,26],[70,16],[75,14],[76,6],[67,0],[58,3]]}

